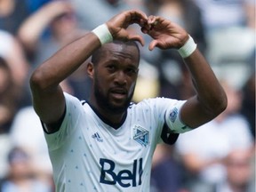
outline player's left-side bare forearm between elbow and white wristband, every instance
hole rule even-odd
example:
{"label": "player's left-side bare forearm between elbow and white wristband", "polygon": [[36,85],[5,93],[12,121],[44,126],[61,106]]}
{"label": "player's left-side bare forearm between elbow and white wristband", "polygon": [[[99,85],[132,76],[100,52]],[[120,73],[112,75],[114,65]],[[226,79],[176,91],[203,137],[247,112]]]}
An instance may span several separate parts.
{"label": "player's left-side bare forearm between elbow and white wristband", "polygon": [[[75,42],[56,52],[49,60],[36,68],[31,76],[32,84],[41,90],[57,87],[87,60],[92,52],[100,47],[97,36],[88,33]],[[33,88],[33,87],[32,87]]]}

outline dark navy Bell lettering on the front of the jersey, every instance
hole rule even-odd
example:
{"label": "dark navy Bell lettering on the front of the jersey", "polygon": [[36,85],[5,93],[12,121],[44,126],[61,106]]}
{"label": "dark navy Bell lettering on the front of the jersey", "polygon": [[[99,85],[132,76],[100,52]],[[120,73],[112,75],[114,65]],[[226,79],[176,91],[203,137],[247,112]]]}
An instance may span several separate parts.
{"label": "dark navy Bell lettering on the front of the jersey", "polygon": [[[121,170],[115,172],[116,164],[112,160],[100,158],[101,172],[100,183],[116,185],[118,183],[123,188],[136,187],[141,185],[142,158],[135,159],[132,164],[132,170]],[[138,180],[137,174],[139,176]]]}

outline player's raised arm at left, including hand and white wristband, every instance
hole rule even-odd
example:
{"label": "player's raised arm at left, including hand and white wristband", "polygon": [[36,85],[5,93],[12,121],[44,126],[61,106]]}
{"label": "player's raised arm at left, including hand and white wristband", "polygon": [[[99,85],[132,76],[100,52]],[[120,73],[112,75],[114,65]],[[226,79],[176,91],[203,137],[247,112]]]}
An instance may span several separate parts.
{"label": "player's raised arm at left, including hand and white wristband", "polygon": [[[108,20],[103,28],[101,26],[68,44],[36,68],[30,77],[33,105],[37,115],[40,116],[44,124],[47,124],[49,132],[56,131],[54,124],[60,122],[65,111],[65,98],[60,82],[71,75],[92,55],[94,50],[100,47],[102,44],[100,30],[105,30],[105,32],[107,30],[113,39],[133,39],[142,44],[142,38],[129,36],[126,28],[133,23],[142,25],[146,21],[147,17],[143,12],[122,12]],[[110,40],[107,38],[107,41]],[[103,41],[106,43],[106,38],[103,38]]]}

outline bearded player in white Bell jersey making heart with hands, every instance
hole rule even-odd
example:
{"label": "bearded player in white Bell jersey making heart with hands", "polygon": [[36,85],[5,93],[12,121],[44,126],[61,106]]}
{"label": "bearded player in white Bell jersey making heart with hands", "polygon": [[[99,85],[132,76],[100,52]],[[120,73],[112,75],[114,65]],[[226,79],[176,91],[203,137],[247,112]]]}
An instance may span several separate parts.
{"label": "bearded player in white Bell jersey making heart with hands", "polygon": [[[140,52],[129,34],[133,23],[153,38],[148,49],[179,49],[193,78],[189,100],[156,98],[130,104]],[[113,41],[114,40],[114,41]],[[89,100],[63,93],[60,82],[92,55]],[[44,126],[56,191],[149,191],[156,144],[173,144],[218,116],[226,94],[183,29],[158,16],[125,11],[68,44],[36,68],[30,78],[33,104]]]}

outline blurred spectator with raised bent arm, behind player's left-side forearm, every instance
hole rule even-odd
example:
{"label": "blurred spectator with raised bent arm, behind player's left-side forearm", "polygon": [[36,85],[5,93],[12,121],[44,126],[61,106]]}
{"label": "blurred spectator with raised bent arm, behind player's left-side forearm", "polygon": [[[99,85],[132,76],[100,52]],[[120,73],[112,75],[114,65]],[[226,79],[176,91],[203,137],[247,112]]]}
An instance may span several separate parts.
{"label": "blurred spectator with raised bent arm, behind player's left-side forearm", "polygon": [[[58,10],[58,12],[56,12]],[[43,36],[48,30],[48,36]],[[78,28],[72,4],[66,1],[52,1],[44,4],[21,25],[19,38],[30,52],[33,68],[52,56],[66,44],[84,35],[86,30]],[[86,76],[86,65],[69,76],[61,85],[80,99],[87,99],[90,92],[82,87],[90,86]],[[69,91],[68,91],[69,90]]]}

